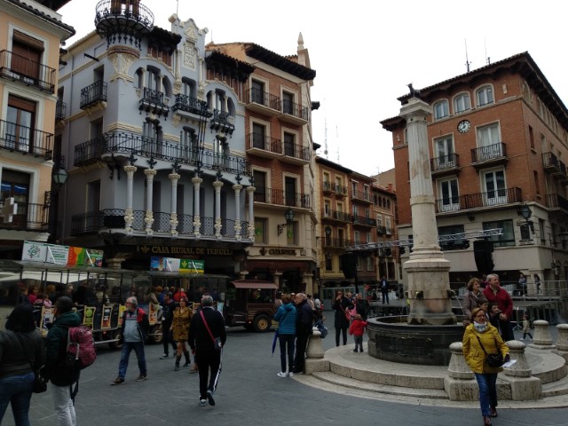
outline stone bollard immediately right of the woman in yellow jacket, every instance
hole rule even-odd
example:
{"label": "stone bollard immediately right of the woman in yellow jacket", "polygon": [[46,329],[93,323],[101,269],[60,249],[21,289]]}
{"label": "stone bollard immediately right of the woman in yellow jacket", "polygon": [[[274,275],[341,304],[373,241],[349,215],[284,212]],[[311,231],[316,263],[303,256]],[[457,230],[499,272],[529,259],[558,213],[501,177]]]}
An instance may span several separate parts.
{"label": "stone bollard immediately right of the woman in yellow jacket", "polygon": [[[536,338],[536,326],[534,337]],[[506,375],[506,380],[510,385],[511,399],[514,401],[539,399],[542,391],[542,385],[540,383],[540,379],[533,377],[532,375],[533,370],[525,357],[525,343],[518,342],[517,340],[509,340],[509,342],[507,342],[507,346],[509,346],[509,355],[511,360],[517,360],[517,362],[511,367],[503,369]]]}

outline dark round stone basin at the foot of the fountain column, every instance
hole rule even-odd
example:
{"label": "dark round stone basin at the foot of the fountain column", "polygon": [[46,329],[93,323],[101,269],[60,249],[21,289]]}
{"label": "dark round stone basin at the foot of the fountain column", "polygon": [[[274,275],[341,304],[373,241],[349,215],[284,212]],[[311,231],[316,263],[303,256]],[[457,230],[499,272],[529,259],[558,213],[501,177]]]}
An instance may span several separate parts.
{"label": "dark round stone basin at the foot of the fountain column", "polygon": [[368,353],[401,364],[447,366],[450,344],[461,342],[461,322],[451,325],[414,325],[406,315],[367,319]]}

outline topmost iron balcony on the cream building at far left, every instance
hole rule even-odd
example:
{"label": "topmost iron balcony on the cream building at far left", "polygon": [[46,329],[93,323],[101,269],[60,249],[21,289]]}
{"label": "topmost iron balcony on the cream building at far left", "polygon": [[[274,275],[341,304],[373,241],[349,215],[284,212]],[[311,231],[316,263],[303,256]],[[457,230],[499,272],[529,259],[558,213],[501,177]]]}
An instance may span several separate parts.
{"label": "topmost iron balcony on the cream building at far left", "polygon": [[55,92],[55,69],[20,56],[0,51],[0,77],[33,86],[40,91]]}

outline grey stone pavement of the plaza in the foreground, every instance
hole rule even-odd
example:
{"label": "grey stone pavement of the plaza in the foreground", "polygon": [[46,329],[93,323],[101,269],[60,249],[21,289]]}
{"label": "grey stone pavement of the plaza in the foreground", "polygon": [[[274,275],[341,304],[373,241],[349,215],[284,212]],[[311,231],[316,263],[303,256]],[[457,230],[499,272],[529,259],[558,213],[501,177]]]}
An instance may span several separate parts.
{"label": "grey stone pavement of the plaza in the foreground", "polygon": [[[333,324],[329,319],[327,323]],[[335,345],[334,330],[324,339],[325,349]],[[517,336],[518,338],[518,336]],[[352,338],[348,340],[352,344]],[[76,398],[77,424],[107,426],[162,425],[481,425],[479,409],[414,406],[345,396],[280,378],[279,349],[271,356],[272,332],[249,333],[230,329],[217,389],[216,406],[198,405],[198,377],[188,367],[175,372],[172,358],[160,360],[162,345],[147,345],[148,380],[137,383],[134,352],[126,383],[111,386],[119,351],[101,348],[95,364],[83,371]],[[354,392],[350,391],[352,395]],[[356,392],[355,392],[356,393]],[[34,426],[57,425],[49,390],[32,397]],[[10,408],[2,425],[12,426]],[[568,426],[568,409],[502,409],[497,426]]]}

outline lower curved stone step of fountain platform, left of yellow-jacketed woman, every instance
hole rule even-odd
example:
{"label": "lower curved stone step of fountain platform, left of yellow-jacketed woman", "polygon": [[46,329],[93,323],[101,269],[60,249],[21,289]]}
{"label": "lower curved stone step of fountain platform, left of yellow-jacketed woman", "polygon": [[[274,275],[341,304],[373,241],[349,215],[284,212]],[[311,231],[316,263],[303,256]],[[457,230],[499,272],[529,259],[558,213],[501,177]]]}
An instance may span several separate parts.
{"label": "lower curved stone step of fountain platform, left of yellow-jacketed woman", "polygon": [[439,389],[420,389],[408,388],[404,386],[393,386],[389,384],[362,382],[360,380],[345,377],[343,375],[335,375],[328,371],[314,372],[312,376],[322,382],[330,383],[343,388],[351,388],[357,390],[366,390],[385,395],[395,395],[400,397],[414,398],[431,398],[431,399],[448,399],[445,390]]}

